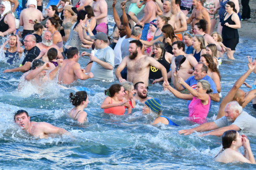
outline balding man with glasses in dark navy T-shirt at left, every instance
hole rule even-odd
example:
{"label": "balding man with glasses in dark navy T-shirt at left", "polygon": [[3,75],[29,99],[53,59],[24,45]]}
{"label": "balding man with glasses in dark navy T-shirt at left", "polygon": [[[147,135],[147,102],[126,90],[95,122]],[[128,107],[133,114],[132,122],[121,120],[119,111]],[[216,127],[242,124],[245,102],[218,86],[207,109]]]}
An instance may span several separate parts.
{"label": "balding man with glasses in dark navy T-shirt at left", "polygon": [[20,67],[17,68],[12,68],[12,69],[7,69],[3,71],[4,73],[9,73],[9,72],[26,72],[29,71],[31,68],[31,63],[32,61],[38,57],[40,54],[40,49],[36,46],[36,38],[35,35],[29,34],[26,35],[24,39],[24,54],[25,58],[23,59],[23,62],[20,64]]}

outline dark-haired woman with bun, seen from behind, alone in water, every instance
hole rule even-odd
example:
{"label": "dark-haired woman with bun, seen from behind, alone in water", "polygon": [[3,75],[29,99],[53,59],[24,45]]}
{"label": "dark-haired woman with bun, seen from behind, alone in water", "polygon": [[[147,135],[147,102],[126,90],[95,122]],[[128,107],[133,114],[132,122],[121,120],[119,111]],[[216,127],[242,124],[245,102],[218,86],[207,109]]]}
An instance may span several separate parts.
{"label": "dark-haired woman with bun, seen from behind, alone in water", "polygon": [[75,108],[68,113],[69,116],[79,123],[87,122],[87,113],[84,108],[87,108],[89,99],[86,91],[78,91],[76,94],[70,93],[70,102]]}

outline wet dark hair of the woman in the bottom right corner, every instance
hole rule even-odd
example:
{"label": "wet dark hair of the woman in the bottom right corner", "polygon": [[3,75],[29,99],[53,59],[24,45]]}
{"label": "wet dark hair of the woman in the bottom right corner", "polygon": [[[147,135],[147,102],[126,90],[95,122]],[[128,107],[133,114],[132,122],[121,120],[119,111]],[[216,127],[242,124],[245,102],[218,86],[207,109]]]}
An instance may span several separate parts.
{"label": "wet dark hair of the woman in the bottom right corner", "polygon": [[236,141],[236,130],[227,130],[222,135],[222,149],[221,151],[214,157],[216,158],[223,150],[230,148],[233,141]]}

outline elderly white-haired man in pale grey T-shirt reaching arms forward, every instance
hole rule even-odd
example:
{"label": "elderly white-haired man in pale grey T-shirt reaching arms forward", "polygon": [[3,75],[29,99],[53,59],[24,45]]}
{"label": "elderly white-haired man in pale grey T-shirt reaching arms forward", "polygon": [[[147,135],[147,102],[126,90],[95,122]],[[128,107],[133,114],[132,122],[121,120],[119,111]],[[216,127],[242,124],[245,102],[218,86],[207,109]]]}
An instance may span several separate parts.
{"label": "elderly white-haired man in pale grey T-shirt reaching arms forward", "polygon": [[215,120],[214,122],[204,123],[192,129],[180,130],[179,133],[189,135],[195,131],[205,132],[213,130],[208,133],[204,133],[203,136],[222,136],[222,134],[227,130],[243,130],[245,133],[256,134],[255,125],[256,118],[243,111],[243,108],[238,102],[232,101],[227,103],[225,107],[225,116],[221,117],[221,119]]}

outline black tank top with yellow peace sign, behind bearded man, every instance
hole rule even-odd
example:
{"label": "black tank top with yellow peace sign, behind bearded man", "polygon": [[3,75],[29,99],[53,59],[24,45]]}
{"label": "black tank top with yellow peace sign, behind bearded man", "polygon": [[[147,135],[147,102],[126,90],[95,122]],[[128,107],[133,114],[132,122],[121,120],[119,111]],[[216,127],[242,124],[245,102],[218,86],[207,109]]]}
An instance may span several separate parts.
{"label": "black tank top with yellow peace sign, behind bearded man", "polygon": [[[157,61],[160,62],[160,64],[163,65],[164,68],[166,68],[166,71],[168,73],[170,71],[171,64],[166,61],[165,54],[166,54],[166,51],[163,52],[163,57]],[[162,72],[160,70],[158,70],[157,68],[150,66],[148,78],[151,80],[154,80],[154,79],[159,79],[161,77],[162,77]]]}

